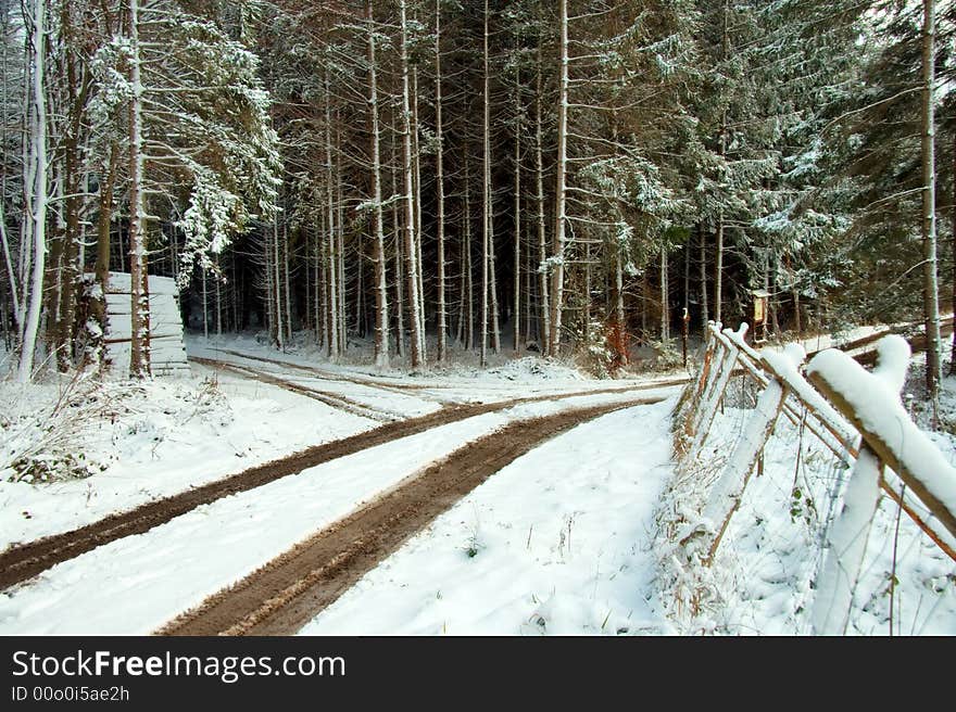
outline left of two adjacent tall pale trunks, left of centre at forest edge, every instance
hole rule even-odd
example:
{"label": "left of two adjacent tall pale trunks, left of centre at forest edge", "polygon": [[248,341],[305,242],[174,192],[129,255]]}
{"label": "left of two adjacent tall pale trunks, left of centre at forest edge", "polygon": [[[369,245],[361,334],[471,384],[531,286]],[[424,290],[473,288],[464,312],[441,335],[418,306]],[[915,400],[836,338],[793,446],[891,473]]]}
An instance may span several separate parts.
{"label": "left of two adjacent tall pale trunks, left of centre at forest edge", "polygon": [[[375,366],[388,368],[389,365],[389,318],[388,278],[385,255],[385,226],[381,207],[381,151],[378,130],[378,75],[375,60],[375,18],[372,0],[365,0],[365,21],[368,23],[368,113],[372,116],[372,201],[373,225],[375,229]],[[358,269],[362,269],[360,251]],[[356,304],[361,295],[356,295]],[[357,308],[357,307],[356,307]],[[399,307],[401,308],[401,307]],[[358,328],[358,319],[355,319]]]}

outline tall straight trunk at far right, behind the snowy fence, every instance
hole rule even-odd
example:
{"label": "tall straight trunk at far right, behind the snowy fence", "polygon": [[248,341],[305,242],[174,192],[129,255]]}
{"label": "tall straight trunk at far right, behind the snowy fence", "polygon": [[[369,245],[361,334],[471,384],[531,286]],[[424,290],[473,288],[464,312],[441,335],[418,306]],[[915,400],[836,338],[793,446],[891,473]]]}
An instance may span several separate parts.
{"label": "tall straight trunk at far right, behind the snowy fence", "polygon": [[922,28],[922,244],[923,314],[927,332],[927,393],[938,412],[942,373],[940,292],[936,271],[936,168],[935,168],[935,8],[923,0]]}

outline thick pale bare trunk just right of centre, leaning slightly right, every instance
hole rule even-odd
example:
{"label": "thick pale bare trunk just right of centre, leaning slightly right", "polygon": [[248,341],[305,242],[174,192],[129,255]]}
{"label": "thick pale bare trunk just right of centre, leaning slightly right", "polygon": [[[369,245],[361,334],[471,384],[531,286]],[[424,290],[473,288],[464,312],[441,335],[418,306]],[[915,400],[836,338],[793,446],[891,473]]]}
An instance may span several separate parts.
{"label": "thick pale bare trunk just right of centre, leaning slightly right", "polygon": [[557,187],[555,189],[554,265],[551,285],[551,335],[549,353],[561,353],[561,320],[564,308],[564,251],[567,173],[567,112],[568,112],[568,16],[567,0],[559,0],[561,22],[561,81],[557,104]]}

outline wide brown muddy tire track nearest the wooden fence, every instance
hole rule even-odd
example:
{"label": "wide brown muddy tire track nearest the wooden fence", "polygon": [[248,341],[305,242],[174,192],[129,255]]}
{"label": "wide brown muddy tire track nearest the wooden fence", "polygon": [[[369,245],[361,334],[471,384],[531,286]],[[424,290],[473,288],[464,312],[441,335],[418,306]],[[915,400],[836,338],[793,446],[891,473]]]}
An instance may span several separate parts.
{"label": "wide brown muddy tire track nearest the wooden fence", "polygon": [[510,423],[465,444],[177,616],[158,635],[289,635],[492,474],[543,442],[636,398]]}

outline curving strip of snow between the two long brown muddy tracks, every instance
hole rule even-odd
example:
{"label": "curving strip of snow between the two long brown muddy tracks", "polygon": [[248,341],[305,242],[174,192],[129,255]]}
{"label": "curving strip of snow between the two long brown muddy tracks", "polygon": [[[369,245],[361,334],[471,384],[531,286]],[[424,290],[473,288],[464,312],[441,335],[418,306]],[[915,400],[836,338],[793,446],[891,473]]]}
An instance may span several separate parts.
{"label": "curving strip of snow between the two long brown muddy tracks", "polygon": [[0,594],[0,634],[149,633],[476,437],[515,419],[627,397],[593,395],[516,406],[218,499]]}

